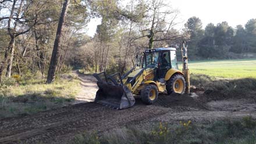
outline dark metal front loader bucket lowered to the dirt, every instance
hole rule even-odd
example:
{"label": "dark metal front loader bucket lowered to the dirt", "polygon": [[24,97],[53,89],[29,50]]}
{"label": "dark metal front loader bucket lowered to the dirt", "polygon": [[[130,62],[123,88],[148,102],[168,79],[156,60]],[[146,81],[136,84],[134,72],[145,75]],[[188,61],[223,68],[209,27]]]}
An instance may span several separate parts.
{"label": "dark metal front loader bucket lowered to the dirt", "polygon": [[[99,75],[103,75],[103,77]],[[134,105],[135,99],[131,91],[122,84],[122,80],[113,78],[116,75],[118,74],[113,74],[106,78],[105,73],[94,74],[94,77],[98,80],[99,87],[94,102],[115,109],[126,109]]]}

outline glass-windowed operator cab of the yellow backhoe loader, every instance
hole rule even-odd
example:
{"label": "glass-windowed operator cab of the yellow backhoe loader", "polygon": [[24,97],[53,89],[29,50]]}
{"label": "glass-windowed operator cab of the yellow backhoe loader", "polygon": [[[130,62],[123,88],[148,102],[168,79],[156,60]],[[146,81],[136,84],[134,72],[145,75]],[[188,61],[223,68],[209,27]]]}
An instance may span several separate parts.
{"label": "glass-windowed operator cab of the yellow backhoe loader", "polygon": [[154,69],[155,80],[165,78],[169,69],[177,69],[176,48],[146,49],[143,56],[143,68]]}

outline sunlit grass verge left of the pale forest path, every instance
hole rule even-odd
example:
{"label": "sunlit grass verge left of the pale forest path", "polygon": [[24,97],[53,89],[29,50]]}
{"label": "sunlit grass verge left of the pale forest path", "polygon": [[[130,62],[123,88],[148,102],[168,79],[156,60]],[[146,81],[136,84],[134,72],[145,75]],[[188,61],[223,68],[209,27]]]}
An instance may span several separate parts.
{"label": "sunlit grass verge left of the pale forest path", "polygon": [[68,105],[80,91],[79,82],[71,74],[58,75],[52,84],[37,75],[10,78],[0,87],[0,118]]}

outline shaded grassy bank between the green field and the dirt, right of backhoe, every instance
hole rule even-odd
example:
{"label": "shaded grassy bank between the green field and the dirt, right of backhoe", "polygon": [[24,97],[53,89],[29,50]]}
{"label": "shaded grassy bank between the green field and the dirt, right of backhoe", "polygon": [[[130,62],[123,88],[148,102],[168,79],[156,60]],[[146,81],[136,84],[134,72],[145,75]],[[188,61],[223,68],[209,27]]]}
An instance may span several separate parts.
{"label": "shaded grassy bank between the green field and the dirt, right of backhoe", "polygon": [[255,78],[240,79],[218,79],[204,74],[191,74],[191,85],[195,88],[191,92],[204,91],[209,100],[229,99],[229,98],[254,98],[256,92]]}

